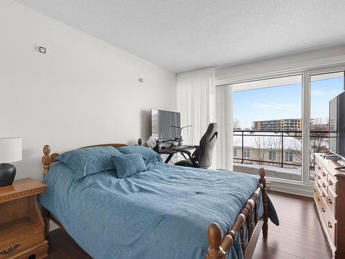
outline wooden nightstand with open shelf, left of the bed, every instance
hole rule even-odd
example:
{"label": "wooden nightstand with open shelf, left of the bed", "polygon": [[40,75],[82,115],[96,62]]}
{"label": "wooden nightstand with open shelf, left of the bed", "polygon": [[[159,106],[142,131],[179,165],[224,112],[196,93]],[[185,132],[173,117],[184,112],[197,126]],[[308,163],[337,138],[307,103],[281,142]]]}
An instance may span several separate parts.
{"label": "wooden nightstand with open shelf, left of the bed", "polygon": [[31,178],[0,187],[0,259],[48,257],[48,241],[37,204],[46,184]]}

